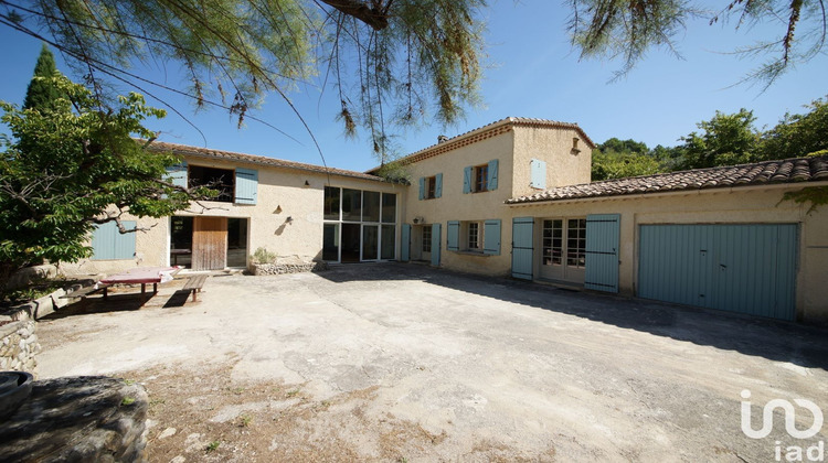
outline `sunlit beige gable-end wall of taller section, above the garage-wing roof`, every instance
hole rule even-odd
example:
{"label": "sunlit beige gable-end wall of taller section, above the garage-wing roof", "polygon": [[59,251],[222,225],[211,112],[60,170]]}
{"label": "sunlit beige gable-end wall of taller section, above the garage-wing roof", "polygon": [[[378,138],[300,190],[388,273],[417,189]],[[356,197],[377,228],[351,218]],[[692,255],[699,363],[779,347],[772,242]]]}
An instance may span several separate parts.
{"label": "sunlit beige gable-end wall of taller section, above the garage-wing roof", "polygon": [[[592,149],[572,129],[514,127],[514,161],[512,197],[530,195],[543,190],[532,189],[530,162],[546,162],[546,190],[590,183]],[[572,149],[572,139],[578,149]]]}

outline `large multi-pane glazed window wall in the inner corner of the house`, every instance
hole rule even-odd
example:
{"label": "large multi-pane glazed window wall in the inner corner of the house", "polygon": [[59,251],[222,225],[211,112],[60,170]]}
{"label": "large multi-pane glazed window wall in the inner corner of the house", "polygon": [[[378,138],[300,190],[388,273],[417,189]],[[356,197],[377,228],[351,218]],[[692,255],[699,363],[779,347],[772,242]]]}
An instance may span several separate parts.
{"label": "large multi-pane glazed window wall in the inner corner of the house", "polygon": [[322,259],[392,260],[396,252],[396,194],[325,187]]}

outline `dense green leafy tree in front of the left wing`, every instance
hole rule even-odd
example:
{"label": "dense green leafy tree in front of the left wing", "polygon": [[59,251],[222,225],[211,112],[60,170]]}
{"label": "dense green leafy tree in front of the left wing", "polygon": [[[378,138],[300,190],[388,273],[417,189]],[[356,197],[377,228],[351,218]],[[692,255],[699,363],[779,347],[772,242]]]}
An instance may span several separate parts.
{"label": "dense green leafy tree in front of the left wing", "polygon": [[[45,77],[35,77],[45,79]],[[88,257],[84,245],[96,224],[115,222],[121,233],[125,213],[163,217],[205,195],[188,192],[162,177],[178,159],[149,153],[152,139],[141,126],[164,111],[145,106],[137,94],[100,109],[92,93],[66,77],[50,78],[62,97],[52,108],[19,109],[0,101],[12,137],[0,136],[0,282],[18,268]]]}

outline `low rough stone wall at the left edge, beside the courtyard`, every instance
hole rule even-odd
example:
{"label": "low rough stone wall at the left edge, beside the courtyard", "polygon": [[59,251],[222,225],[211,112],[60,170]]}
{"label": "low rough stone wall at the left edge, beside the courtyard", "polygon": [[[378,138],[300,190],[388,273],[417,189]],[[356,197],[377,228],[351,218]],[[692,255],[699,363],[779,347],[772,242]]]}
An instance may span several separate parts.
{"label": "low rough stone wall at the left edge, beside the courtyard", "polygon": [[0,370],[28,372],[36,376],[40,343],[34,320],[25,312],[0,315]]}

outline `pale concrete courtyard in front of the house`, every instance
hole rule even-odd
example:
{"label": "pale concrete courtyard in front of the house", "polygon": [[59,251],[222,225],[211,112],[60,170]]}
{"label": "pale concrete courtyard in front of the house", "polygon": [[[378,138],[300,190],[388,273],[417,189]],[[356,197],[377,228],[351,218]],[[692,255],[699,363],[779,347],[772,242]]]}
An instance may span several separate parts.
{"label": "pale concrete courtyard in front of the house", "polygon": [[[173,290],[43,321],[41,377],[152,372],[152,396],[164,372],[223,365],[234,384],[301,385],[307,403],[327,403],[291,438],[310,456],[328,439],[359,460],[760,462],[827,440],[828,427],[789,437],[781,409],[751,439],[740,416],[745,389],[753,429],[771,399],[828,414],[822,330],[400,263],[213,277],[183,306]],[[268,403],[257,412],[276,413]],[[382,440],[389,420],[428,439]],[[299,455],[280,442],[247,457]]]}

